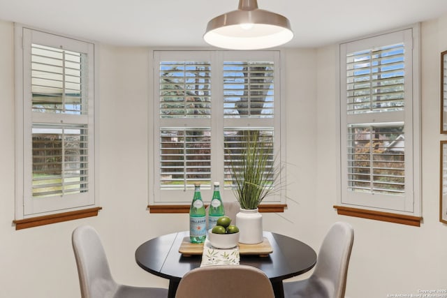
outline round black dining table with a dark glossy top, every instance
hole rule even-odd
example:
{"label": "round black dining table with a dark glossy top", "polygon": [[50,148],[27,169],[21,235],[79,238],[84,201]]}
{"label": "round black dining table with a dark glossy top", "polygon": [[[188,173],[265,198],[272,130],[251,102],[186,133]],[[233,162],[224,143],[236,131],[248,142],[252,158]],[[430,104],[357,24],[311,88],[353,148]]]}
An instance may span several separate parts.
{"label": "round black dining table with a dark glossy top", "polygon": [[[189,232],[175,232],[145,241],[135,251],[135,261],[146,271],[169,279],[168,297],[174,298],[180,280],[200,267],[202,255],[184,255],[179,248]],[[316,264],[316,253],[307,244],[274,232],[263,232],[272,248],[267,255],[240,255],[240,264],[261,269],[270,278],[276,298],[284,297],[283,280],[303,274]]]}

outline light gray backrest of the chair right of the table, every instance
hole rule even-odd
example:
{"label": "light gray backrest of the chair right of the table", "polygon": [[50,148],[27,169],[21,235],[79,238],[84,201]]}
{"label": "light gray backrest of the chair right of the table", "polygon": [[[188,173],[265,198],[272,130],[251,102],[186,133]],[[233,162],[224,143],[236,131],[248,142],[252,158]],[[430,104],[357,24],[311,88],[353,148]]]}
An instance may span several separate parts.
{"label": "light gray backrest of the chair right of the table", "polygon": [[344,297],[353,241],[352,226],[338,222],[332,225],[321,244],[311,278],[318,279],[328,297]]}

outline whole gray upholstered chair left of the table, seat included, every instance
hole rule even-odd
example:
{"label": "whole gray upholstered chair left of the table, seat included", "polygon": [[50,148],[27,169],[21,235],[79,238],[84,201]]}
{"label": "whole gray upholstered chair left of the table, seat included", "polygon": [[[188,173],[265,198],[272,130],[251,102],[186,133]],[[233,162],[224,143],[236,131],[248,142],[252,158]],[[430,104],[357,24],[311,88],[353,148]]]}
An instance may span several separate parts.
{"label": "whole gray upholstered chair left of the table, seat included", "polygon": [[105,256],[101,239],[94,228],[83,225],[71,236],[82,298],[168,297],[163,288],[142,288],[116,283]]}

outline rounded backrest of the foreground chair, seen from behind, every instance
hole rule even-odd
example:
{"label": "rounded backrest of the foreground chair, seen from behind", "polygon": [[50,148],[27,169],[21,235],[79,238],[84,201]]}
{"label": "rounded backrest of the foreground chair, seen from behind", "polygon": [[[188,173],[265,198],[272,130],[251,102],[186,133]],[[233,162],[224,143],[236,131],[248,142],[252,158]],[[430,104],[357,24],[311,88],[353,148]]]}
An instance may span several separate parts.
{"label": "rounded backrest of the foreground chair, seen from behind", "polygon": [[272,283],[261,269],[247,265],[199,267],[180,280],[175,298],[274,298]]}

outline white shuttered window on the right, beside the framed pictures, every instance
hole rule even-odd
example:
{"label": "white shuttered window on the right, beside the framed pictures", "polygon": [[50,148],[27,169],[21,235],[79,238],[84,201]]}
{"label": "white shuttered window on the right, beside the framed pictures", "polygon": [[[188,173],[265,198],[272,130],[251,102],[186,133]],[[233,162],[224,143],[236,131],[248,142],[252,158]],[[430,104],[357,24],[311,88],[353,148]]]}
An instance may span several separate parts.
{"label": "white shuttered window on the right, beside the framed pictures", "polygon": [[341,204],[420,215],[418,28],[340,45]]}

